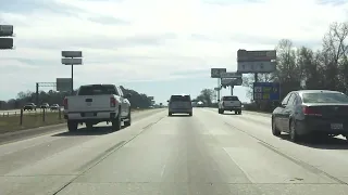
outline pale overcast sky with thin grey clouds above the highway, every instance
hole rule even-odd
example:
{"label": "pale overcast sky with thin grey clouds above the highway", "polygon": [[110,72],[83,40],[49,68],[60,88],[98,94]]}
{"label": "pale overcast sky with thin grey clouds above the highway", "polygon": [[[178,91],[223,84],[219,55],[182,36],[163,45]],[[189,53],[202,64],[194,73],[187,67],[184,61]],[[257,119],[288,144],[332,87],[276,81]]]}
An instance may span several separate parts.
{"label": "pale overcast sky with thin grey clouds above the highway", "polygon": [[[214,88],[211,67],[236,70],[238,49],[274,49],[279,39],[318,48],[344,0],[0,0],[15,50],[0,51],[0,100],[66,78],[61,50],[82,50],[75,87],[115,83],[164,102]],[[50,90],[50,88],[46,88]],[[223,94],[228,94],[224,90]],[[235,88],[246,101],[246,89]]]}

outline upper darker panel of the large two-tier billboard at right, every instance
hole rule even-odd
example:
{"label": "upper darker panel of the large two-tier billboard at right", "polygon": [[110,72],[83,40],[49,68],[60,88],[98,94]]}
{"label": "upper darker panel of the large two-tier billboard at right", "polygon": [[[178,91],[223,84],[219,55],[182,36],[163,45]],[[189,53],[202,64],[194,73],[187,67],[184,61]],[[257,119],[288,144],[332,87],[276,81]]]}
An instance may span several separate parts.
{"label": "upper darker panel of the large two-tier billboard at right", "polygon": [[259,50],[259,51],[237,51],[237,62],[259,62],[276,60],[275,50]]}

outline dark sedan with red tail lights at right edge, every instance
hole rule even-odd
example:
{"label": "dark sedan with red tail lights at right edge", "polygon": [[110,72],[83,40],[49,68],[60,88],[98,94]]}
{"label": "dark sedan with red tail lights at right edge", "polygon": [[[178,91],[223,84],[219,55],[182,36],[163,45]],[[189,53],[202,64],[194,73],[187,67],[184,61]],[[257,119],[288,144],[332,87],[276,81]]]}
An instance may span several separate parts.
{"label": "dark sedan with red tail lights at right edge", "polygon": [[344,135],[348,140],[348,96],[338,91],[288,93],[272,113],[272,133],[287,132],[293,142],[303,135]]}

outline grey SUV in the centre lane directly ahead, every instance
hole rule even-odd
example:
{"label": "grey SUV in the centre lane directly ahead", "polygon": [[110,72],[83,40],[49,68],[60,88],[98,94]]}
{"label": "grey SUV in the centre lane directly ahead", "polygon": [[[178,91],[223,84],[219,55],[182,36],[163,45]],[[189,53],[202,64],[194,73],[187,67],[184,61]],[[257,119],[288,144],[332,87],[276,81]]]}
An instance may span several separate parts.
{"label": "grey SUV in the centre lane directly ahead", "polygon": [[192,103],[190,95],[172,95],[167,102],[169,116],[172,116],[173,114],[188,114],[189,116],[192,116]]}

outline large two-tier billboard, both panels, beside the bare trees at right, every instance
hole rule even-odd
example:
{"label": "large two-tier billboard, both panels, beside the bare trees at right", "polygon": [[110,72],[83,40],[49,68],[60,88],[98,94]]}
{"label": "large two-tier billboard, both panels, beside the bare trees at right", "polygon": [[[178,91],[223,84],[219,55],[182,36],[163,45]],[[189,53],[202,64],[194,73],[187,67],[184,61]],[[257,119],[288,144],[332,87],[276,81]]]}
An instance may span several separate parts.
{"label": "large two-tier billboard, both panels, beside the bare trees at right", "polygon": [[241,74],[273,73],[276,70],[276,51],[237,51],[237,72]]}

